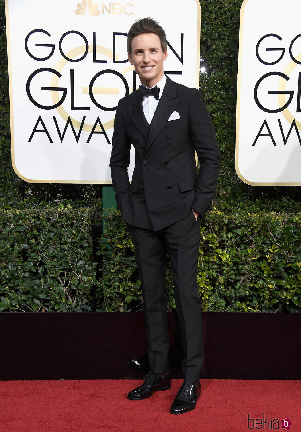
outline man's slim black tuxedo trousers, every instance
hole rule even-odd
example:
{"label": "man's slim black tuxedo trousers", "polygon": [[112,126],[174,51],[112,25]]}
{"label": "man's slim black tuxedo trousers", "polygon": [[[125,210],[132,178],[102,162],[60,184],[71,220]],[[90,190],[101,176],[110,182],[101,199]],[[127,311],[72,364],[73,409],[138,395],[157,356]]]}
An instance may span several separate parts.
{"label": "man's slim black tuxedo trousers", "polygon": [[159,231],[130,226],[141,279],[149,364],[155,374],[168,372],[166,255],[171,259],[174,298],[184,349],[184,381],[197,382],[203,365],[202,311],[197,284],[200,222],[188,216]]}

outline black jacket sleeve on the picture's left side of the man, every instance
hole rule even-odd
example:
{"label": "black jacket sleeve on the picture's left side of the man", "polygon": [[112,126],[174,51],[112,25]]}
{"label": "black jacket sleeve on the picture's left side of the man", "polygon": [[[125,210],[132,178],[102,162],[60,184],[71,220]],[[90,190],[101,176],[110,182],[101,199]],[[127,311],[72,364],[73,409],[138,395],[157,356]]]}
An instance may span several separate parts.
{"label": "black jacket sleeve on the picture's left side of the man", "polygon": [[127,168],[130,165],[130,138],[127,135],[124,121],[118,104],[114,120],[113,148],[110,159],[111,177],[113,189],[116,192],[115,199],[120,209],[121,202],[129,201],[128,190],[130,187]]}

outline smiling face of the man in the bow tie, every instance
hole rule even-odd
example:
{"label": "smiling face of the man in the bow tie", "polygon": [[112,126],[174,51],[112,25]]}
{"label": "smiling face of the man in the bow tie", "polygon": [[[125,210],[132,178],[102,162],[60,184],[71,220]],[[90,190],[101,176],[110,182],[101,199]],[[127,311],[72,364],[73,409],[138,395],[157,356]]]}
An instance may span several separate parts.
{"label": "smiling face of the man in the bow tie", "polygon": [[132,40],[132,54],[128,54],[128,57],[143,86],[153,87],[163,78],[163,62],[167,59],[167,51],[162,50],[158,35],[142,33],[135,36]]}

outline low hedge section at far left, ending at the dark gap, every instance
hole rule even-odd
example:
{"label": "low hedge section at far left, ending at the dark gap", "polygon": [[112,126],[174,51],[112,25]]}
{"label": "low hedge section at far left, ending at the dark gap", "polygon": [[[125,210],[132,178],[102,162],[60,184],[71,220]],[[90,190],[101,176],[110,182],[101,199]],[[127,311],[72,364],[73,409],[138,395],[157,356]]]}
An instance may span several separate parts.
{"label": "low hedge section at far left, ending at the dark gap", "polygon": [[0,311],[90,311],[91,211],[0,213]]}

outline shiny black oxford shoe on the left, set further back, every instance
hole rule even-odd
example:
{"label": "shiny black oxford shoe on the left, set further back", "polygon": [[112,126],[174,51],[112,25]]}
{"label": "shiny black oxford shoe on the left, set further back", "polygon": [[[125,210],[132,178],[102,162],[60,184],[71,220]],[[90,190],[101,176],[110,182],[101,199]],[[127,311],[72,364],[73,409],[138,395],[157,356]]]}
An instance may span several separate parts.
{"label": "shiny black oxford shoe on the left, set further back", "polygon": [[160,377],[160,375],[154,375],[151,371],[143,379],[144,382],[140,387],[134,388],[134,390],[130,391],[130,393],[127,395],[128,399],[146,399],[147,397],[152,396],[155,391],[168,390],[171,388],[169,372],[165,377]]}

